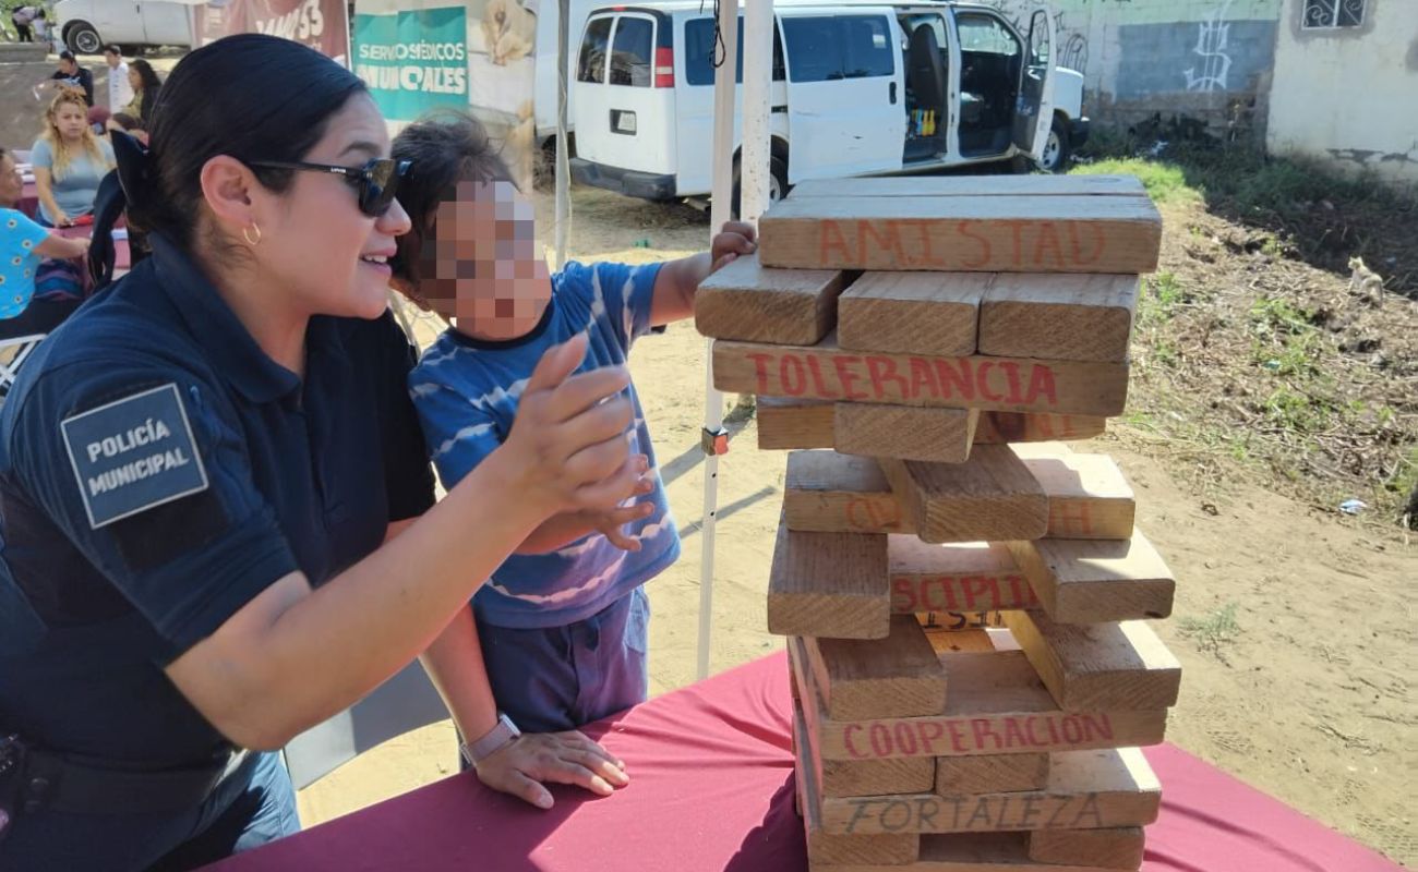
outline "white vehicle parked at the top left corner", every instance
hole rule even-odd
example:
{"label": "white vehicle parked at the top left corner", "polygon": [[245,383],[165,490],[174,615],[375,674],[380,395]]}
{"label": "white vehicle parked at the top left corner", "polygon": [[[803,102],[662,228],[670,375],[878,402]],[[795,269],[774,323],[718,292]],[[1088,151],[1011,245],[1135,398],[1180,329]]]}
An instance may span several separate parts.
{"label": "white vehicle parked at the top left corner", "polygon": [[170,0],[60,0],[54,13],[74,54],[105,45],[191,45],[191,6]]}

